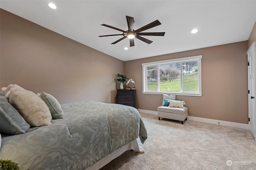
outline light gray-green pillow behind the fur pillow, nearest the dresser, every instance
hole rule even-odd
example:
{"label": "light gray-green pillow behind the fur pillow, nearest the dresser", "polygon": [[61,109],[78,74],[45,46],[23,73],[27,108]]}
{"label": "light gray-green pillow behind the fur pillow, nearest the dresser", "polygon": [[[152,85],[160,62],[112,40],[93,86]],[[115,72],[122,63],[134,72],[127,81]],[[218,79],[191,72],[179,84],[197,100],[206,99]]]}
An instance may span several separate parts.
{"label": "light gray-green pillow behind the fur pillow, nearest the dresser", "polygon": [[64,118],[64,112],[56,98],[45,92],[42,92],[40,94],[40,98],[42,98],[42,100],[44,100],[46,105],[49,107],[52,119]]}

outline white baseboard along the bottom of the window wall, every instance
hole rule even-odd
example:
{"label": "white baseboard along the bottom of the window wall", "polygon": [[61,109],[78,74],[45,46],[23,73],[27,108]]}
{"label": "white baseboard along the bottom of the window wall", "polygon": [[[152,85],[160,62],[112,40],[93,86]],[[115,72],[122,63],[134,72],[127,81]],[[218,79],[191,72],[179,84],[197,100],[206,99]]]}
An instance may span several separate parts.
{"label": "white baseboard along the bottom of the window wall", "polygon": [[[148,113],[148,114],[152,114],[152,115],[157,115],[157,111],[144,110],[144,109],[138,109],[138,111],[141,112],[141,113]],[[238,127],[238,128],[241,128],[241,129],[249,129],[248,124],[236,123],[236,122],[231,122],[231,121],[207,119],[207,118],[194,117],[194,116],[188,116],[188,120],[199,121],[199,122],[204,122],[204,123],[211,123],[211,124],[215,124],[215,125],[229,126],[229,127]]]}

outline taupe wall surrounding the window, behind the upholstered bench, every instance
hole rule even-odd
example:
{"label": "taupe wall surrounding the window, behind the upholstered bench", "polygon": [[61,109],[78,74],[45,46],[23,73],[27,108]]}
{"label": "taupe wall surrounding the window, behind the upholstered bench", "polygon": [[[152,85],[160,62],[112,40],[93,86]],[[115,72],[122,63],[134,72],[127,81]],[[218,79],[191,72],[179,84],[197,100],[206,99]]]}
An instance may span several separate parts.
{"label": "taupe wall surrounding the window, behind the upholstered bench", "polygon": [[202,55],[202,97],[184,100],[188,115],[248,124],[248,41],[124,62],[124,72],[135,81],[136,108],[157,111],[162,95],[142,94],[142,63]]}

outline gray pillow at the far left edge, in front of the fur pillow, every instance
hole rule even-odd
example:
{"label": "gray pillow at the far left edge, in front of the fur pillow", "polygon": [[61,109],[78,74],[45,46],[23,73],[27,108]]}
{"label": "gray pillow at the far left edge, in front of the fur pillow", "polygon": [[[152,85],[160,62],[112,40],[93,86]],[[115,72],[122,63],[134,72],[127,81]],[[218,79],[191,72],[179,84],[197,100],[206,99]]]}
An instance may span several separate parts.
{"label": "gray pillow at the far left edge, in front of the fur pillow", "polygon": [[8,98],[0,95],[0,131],[8,135],[25,133],[30,125],[20,113],[8,102]]}

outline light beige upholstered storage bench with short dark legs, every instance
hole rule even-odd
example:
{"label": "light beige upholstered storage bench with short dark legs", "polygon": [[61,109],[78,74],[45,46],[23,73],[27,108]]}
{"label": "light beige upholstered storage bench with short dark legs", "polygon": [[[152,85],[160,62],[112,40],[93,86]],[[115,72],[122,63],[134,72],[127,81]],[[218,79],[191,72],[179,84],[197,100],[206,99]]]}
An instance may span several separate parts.
{"label": "light beige upholstered storage bench with short dark legs", "polygon": [[183,125],[183,121],[188,117],[188,107],[168,107],[168,106],[160,106],[157,108],[158,111],[158,119],[160,117],[172,120],[181,121]]}

